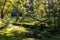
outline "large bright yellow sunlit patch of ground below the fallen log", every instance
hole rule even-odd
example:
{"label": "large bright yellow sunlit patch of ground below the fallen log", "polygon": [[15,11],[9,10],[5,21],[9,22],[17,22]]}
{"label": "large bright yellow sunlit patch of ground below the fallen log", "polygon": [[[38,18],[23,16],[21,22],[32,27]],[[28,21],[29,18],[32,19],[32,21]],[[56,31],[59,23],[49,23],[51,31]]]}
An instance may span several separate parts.
{"label": "large bright yellow sunlit patch of ground below the fallen log", "polygon": [[20,34],[22,32],[29,32],[29,31],[27,30],[27,28],[14,26],[12,24],[10,24],[6,29],[0,30],[0,34],[6,36],[15,36],[14,32]]}

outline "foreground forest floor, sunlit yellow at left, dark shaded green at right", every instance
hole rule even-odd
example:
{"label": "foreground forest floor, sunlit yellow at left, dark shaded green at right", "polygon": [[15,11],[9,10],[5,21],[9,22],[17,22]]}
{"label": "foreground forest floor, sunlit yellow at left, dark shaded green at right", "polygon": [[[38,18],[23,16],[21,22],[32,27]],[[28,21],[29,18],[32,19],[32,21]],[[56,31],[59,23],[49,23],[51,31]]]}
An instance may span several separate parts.
{"label": "foreground forest floor, sunlit yellow at left, dark shaded green at right", "polygon": [[10,24],[9,27],[0,30],[0,40],[60,40],[60,33],[51,34],[41,30],[41,27],[31,25]]}

